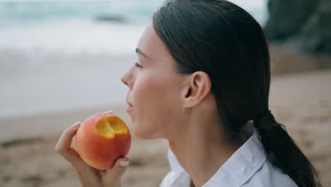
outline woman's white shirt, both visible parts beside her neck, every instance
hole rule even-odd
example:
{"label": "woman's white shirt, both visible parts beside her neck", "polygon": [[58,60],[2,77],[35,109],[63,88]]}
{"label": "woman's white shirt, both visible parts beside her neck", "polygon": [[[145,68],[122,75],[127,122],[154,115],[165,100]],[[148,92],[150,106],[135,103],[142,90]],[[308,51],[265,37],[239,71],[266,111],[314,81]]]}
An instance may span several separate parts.
{"label": "woman's white shirt, both visible parts beside her neck", "polygon": [[[160,187],[190,187],[190,175],[180,166],[170,149],[168,162],[170,172],[164,177]],[[202,187],[219,186],[298,187],[287,174],[266,159],[256,130]]]}

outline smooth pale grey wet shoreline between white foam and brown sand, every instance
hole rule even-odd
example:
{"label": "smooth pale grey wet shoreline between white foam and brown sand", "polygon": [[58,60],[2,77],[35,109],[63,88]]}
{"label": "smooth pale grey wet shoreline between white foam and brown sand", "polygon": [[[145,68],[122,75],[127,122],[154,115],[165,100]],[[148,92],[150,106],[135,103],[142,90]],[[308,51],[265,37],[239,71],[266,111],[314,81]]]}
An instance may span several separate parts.
{"label": "smooth pale grey wet shoreline between white foam and brown sand", "polygon": [[120,79],[135,60],[0,50],[0,118],[121,105],[127,86]]}

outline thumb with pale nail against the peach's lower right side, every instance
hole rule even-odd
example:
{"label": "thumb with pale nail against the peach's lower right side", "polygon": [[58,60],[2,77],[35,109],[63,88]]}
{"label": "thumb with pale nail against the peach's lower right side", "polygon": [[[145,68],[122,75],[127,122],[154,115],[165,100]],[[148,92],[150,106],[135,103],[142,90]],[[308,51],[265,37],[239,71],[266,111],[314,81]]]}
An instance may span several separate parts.
{"label": "thumb with pale nail against the peach's lower right side", "polygon": [[129,166],[129,162],[130,160],[127,157],[117,159],[112,169],[105,171],[105,175],[103,176],[105,186],[119,184],[127,166]]}

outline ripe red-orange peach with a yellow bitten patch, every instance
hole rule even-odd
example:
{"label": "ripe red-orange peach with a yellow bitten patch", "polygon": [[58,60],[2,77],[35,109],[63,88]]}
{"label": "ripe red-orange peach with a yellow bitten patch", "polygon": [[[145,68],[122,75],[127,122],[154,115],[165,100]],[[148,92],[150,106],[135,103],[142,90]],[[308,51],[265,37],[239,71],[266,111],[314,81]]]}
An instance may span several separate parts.
{"label": "ripe red-orange peach with a yellow bitten patch", "polygon": [[129,153],[131,135],[127,125],[112,113],[99,114],[81,123],[76,149],[86,164],[111,169],[115,159]]}

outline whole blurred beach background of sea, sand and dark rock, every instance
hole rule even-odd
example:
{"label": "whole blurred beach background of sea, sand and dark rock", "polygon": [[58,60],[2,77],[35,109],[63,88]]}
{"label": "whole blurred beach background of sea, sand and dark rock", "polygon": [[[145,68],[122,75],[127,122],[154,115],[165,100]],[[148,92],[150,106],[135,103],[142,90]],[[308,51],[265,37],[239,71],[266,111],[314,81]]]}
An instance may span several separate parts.
{"label": "whole blurred beach background of sea, sand and dark rock", "polygon": [[[265,30],[270,108],[331,186],[331,1],[232,0]],[[94,113],[125,113],[120,77],[162,0],[0,0],[1,186],[80,186],[54,152],[62,130]],[[158,186],[164,140],[133,137],[123,186]]]}

